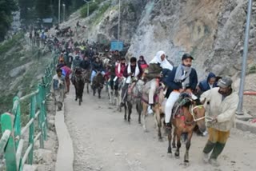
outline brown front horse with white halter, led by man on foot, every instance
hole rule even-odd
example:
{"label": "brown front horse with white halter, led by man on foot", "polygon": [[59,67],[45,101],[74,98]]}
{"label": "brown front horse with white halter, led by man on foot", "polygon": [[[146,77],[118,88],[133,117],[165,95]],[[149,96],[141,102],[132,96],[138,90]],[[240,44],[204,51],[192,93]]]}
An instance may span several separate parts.
{"label": "brown front horse with white halter, led by man on foot", "polygon": [[[177,137],[177,149],[175,157],[179,157],[179,149],[181,148],[181,137],[186,137],[186,153],[184,156],[184,163],[189,163],[189,150],[191,144],[191,138],[193,135],[193,129],[195,125],[198,125],[199,129],[204,132],[206,130],[205,125],[205,108],[202,103],[197,100],[194,101],[189,93],[181,93],[178,101],[176,101],[173,109],[173,117],[170,118],[170,123],[174,125],[174,139],[173,148],[176,148],[176,137]],[[185,133],[185,134],[184,134]],[[168,133],[168,153],[172,153],[171,140],[172,131],[170,129]]]}

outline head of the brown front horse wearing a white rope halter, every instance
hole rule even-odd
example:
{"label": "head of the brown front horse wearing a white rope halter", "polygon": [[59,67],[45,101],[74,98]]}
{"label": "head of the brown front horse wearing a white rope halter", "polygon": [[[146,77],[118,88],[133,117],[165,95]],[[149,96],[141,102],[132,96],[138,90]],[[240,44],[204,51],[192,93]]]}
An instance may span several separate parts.
{"label": "head of the brown front horse wearing a white rope halter", "polygon": [[202,105],[202,103],[198,100],[192,101],[190,113],[194,119],[194,121],[197,123],[198,128],[203,133],[206,131],[206,124],[205,124],[205,113],[206,109]]}

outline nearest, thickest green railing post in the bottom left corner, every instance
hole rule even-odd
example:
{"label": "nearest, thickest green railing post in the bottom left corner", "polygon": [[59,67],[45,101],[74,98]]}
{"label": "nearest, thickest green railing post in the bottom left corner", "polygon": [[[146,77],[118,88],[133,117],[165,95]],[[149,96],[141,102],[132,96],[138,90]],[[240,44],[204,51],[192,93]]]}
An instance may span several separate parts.
{"label": "nearest, thickest green railing post in the bottom left corner", "polygon": [[16,147],[15,147],[14,129],[13,129],[14,116],[12,116],[10,113],[2,114],[1,127],[2,127],[2,133],[4,133],[5,130],[10,130],[9,141],[6,144],[6,149],[5,149],[6,170],[16,171],[18,168],[16,165]]}

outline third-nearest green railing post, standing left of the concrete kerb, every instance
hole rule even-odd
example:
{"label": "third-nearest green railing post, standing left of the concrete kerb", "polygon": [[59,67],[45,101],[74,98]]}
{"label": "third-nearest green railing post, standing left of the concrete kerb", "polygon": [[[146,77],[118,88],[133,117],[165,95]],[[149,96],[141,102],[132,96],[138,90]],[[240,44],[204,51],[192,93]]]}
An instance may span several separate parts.
{"label": "third-nearest green railing post, standing left of the concrete kerb", "polygon": [[[34,118],[35,112],[36,112],[36,95],[31,97],[31,102],[30,102],[30,119]],[[33,164],[33,152],[34,152],[34,121],[30,125],[30,137],[29,137],[29,144],[32,144],[32,149],[30,150],[29,153],[29,158],[28,158],[28,164],[32,165]]]}

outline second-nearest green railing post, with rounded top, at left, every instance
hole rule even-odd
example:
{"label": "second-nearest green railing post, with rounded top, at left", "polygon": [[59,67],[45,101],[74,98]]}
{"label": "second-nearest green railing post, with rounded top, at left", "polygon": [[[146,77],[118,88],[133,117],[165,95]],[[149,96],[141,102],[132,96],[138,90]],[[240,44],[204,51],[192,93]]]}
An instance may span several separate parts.
{"label": "second-nearest green railing post, with rounded top, at left", "polygon": [[18,142],[19,139],[21,138],[21,105],[19,102],[19,97],[16,96],[14,97],[13,100],[13,109],[12,109],[12,113],[14,114],[14,138],[15,137],[19,137],[17,141],[15,141],[15,146],[16,149],[18,148]]}

